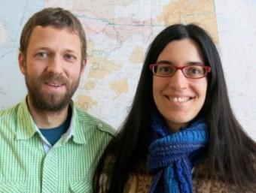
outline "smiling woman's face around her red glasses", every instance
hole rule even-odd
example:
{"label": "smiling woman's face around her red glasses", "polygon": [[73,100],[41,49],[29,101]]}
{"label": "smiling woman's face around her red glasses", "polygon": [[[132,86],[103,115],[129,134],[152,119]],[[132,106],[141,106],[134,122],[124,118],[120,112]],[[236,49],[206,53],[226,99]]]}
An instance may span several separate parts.
{"label": "smiling woman's face around her red glasses", "polygon": [[[177,67],[203,64],[203,55],[191,39],[171,41],[157,58],[157,63],[168,62]],[[172,131],[179,131],[194,119],[206,99],[207,79],[190,79],[182,71],[173,77],[153,76],[153,97],[157,109]]]}

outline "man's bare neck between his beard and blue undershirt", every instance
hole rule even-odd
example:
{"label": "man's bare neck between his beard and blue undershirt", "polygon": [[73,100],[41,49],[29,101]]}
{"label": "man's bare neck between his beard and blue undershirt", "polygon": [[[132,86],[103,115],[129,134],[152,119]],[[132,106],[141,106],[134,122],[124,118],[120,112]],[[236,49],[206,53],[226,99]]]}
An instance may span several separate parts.
{"label": "man's bare neck between his beard and blue undershirt", "polygon": [[68,116],[69,105],[57,112],[37,110],[32,102],[27,100],[29,112],[38,128],[56,128],[64,122]]}

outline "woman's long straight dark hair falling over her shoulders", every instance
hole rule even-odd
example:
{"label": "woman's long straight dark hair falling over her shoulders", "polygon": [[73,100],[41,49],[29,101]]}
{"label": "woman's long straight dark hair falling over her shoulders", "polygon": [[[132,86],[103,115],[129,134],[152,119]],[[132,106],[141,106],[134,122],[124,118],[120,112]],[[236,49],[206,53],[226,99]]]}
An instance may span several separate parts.
{"label": "woman's long straight dark hair falling over her shoulders", "polygon": [[[227,86],[221,59],[212,38],[194,24],[169,26],[160,32],[149,47],[142,68],[139,85],[120,132],[108,144],[93,179],[93,191],[99,191],[99,178],[105,167],[106,158],[113,158],[108,179],[107,193],[121,193],[128,175],[148,154],[148,137],[151,135],[150,112],[155,107],[152,96],[152,73],[148,66],[157,62],[157,57],[169,42],[190,38],[197,42],[203,53],[205,65],[212,68],[208,75],[206,101],[200,110],[209,125],[210,140],[207,156],[213,173],[218,173],[227,182],[244,187],[253,182],[256,169],[253,156],[256,144],[242,130],[230,107]],[[253,155],[253,156],[252,156]]]}

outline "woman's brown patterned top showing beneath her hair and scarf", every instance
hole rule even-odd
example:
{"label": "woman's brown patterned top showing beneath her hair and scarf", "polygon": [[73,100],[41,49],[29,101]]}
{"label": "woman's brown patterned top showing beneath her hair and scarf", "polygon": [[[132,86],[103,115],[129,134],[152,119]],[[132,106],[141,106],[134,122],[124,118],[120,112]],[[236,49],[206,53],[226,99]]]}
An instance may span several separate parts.
{"label": "woman's brown patterned top showing beneath her hair and scarf", "polygon": [[[143,167],[140,168],[138,172],[130,173],[123,193],[149,192],[152,176],[146,169],[142,169]],[[107,173],[102,175],[102,183],[106,182],[108,178]],[[203,163],[198,164],[198,166],[194,168],[193,185],[194,193],[256,193],[256,183],[252,184],[251,188],[248,188],[248,190],[241,191],[235,188],[234,185],[212,176],[209,173],[209,161],[203,161]],[[101,193],[104,193],[104,191],[101,191]]]}

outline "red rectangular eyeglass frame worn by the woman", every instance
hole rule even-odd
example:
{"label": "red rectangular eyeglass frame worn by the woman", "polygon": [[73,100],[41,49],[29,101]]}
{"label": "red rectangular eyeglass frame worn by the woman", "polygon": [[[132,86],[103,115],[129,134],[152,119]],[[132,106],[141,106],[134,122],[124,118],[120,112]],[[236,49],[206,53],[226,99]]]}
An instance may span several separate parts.
{"label": "red rectangular eyeglass frame worn by the woman", "polygon": [[[172,76],[160,76],[160,75],[157,75],[157,74],[154,72],[154,67],[155,67],[155,66],[158,66],[158,65],[168,65],[168,64],[151,64],[151,65],[149,65],[149,69],[152,71],[152,73],[154,74],[154,76],[157,76],[157,77],[173,77],[173,76],[175,75],[176,71],[181,70],[182,74],[183,74],[184,77],[186,77],[186,78],[190,78],[190,79],[200,79],[200,78],[206,77],[207,74],[208,74],[209,72],[211,72],[211,70],[212,70],[212,68],[209,67],[209,66],[207,66],[207,65],[184,65],[184,66],[180,66],[180,67],[175,66],[175,65],[169,65],[169,66],[172,66],[172,67],[175,69],[175,71],[174,71],[174,73],[172,74]],[[203,67],[203,68],[205,68],[205,70],[206,70],[206,74],[205,74],[203,77],[197,77],[197,78],[194,78],[194,77],[187,77],[186,74],[184,74],[183,69],[184,69],[184,68],[187,68],[187,67],[189,67],[189,66],[200,66],[200,67]]]}

